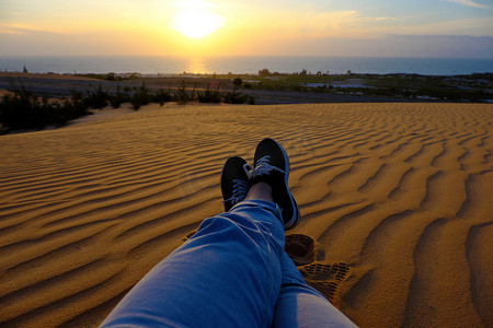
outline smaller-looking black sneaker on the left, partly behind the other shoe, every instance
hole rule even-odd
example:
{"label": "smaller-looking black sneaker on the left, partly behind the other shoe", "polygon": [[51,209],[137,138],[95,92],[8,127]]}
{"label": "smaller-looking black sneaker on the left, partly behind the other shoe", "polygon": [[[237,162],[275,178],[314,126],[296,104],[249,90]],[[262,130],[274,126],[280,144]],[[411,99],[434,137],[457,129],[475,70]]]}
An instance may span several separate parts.
{"label": "smaller-looking black sneaker on the left, partly behind the other shoe", "polygon": [[229,157],[222,166],[221,191],[225,212],[242,201],[249,194],[248,175],[243,166],[248,165],[242,157]]}

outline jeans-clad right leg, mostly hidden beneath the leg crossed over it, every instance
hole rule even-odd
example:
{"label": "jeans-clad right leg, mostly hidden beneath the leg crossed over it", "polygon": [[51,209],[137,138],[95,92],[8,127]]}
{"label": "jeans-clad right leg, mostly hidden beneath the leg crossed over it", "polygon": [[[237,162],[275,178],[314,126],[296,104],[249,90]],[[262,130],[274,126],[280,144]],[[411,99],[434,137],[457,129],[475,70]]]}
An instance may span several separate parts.
{"label": "jeans-clad right leg, mostly hidden beneath the leg crossed over it", "polygon": [[282,286],[274,328],[356,327],[322,294],[309,286],[286,253],[282,255]]}

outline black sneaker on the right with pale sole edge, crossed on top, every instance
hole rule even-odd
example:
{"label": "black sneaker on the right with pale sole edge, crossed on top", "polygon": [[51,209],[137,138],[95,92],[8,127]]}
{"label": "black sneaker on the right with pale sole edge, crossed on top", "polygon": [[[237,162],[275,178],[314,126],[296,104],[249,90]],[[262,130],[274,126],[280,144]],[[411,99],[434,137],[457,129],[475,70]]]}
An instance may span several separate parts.
{"label": "black sneaker on the right with pale sole edge, crossed on top", "polygon": [[299,208],[288,188],[289,159],[284,149],[273,139],[262,140],[255,150],[254,168],[250,166],[249,186],[267,183],[272,197],[282,210],[284,230],[299,222]]}

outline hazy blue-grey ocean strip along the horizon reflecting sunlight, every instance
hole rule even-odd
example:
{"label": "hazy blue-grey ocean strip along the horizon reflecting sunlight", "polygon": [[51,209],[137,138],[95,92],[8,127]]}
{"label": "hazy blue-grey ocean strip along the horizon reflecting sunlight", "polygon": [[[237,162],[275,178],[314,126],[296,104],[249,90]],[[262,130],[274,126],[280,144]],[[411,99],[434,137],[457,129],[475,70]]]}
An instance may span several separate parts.
{"label": "hazy blue-grey ocean strip along the horizon reflecting sunlight", "polygon": [[159,56],[0,56],[0,71],[55,73],[416,73],[456,75],[492,73],[493,59],[376,58],[376,57],[159,57]]}

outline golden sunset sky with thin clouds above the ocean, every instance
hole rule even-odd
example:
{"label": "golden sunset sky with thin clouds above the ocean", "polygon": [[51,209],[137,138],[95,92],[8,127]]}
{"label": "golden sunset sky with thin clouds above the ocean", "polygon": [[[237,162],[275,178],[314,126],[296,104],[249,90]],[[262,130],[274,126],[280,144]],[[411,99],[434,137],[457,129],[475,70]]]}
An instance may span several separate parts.
{"label": "golden sunset sky with thin clouds above the ocean", "polygon": [[493,58],[493,0],[0,0],[0,56]]}

